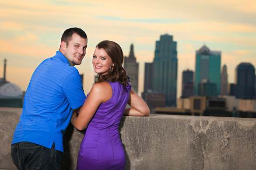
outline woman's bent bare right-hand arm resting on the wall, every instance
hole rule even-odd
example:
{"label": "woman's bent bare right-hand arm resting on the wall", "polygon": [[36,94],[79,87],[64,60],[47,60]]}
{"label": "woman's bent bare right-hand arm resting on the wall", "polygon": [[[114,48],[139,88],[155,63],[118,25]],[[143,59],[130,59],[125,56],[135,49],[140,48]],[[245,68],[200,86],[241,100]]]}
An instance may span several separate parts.
{"label": "woman's bent bare right-hand arm resting on the wall", "polygon": [[133,89],[130,91],[130,97],[127,104],[130,105],[131,108],[126,108],[123,116],[149,116],[150,110],[147,104],[133,91]]}

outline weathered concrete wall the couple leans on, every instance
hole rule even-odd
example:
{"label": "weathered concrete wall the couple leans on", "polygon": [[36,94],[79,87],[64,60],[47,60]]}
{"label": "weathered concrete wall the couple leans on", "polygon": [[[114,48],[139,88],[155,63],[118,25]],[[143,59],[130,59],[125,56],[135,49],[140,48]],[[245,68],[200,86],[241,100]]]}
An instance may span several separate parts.
{"label": "weathered concrete wall the couple leans on", "polygon": [[[21,109],[0,108],[0,170],[15,169],[11,141]],[[255,170],[256,119],[124,116],[119,125],[126,170]],[[69,126],[62,169],[75,170],[84,136]]]}

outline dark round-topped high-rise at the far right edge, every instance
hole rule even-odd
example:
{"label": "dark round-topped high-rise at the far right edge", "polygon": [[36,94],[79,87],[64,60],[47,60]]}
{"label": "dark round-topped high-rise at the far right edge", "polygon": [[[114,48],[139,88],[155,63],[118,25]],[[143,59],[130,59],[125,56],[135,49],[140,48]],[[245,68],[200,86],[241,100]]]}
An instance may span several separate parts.
{"label": "dark round-topped high-rise at the far right edge", "polygon": [[255,68],[251,63],[240,63],[235,69],[236,94],[238,99],[253,99],[255,96]]}

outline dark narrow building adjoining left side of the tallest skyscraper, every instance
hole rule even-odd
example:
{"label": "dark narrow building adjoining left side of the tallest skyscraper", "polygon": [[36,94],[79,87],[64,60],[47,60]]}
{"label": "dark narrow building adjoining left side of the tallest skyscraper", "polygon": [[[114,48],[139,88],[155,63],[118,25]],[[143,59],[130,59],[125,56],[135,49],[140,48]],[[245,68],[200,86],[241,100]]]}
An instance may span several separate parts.
{"label": "dark narrow building adjoining left side of the tallest skyscraper", "polygon": [[152,91],[153,63],[145,63],[144,92]]}

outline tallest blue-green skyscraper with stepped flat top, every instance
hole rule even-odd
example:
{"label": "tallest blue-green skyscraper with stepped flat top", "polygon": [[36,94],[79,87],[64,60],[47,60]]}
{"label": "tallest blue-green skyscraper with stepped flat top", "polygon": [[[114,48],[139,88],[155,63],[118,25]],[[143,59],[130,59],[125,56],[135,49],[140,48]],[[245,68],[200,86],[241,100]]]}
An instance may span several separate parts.
{"label": "tallest blue-green skyscraper with stepped flat top", "polygon": [[166,96],[166,106],[176,105],[177,42],[172,35],[161,35],[156,41],[153,61],[153,91]]}

